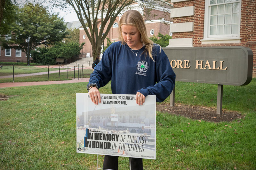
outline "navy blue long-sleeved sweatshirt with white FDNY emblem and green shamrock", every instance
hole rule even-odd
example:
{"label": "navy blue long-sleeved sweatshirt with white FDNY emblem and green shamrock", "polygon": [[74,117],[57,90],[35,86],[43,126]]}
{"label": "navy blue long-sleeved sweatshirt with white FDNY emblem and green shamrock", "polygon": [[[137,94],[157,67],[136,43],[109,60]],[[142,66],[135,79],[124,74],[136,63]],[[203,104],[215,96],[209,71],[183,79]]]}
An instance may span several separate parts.
{"label": "navy blue long-sleeved sweatshirt with white FDNY emblem and green shamrock", "polygon": [[120,41],[112,43],[104,51],[100,63],[94,67],[89,84],[96,83],[100,88],[112,80],[113,94],[140,92],[145,97],[156,95],[157,102],[164,101],[174,87],[175,73],[158,45],[154,44],[152,50],[155,62],[148,55],[145,57],[145,53],[142,54],[144,49],[145,46],[139,51],[131,50]]}

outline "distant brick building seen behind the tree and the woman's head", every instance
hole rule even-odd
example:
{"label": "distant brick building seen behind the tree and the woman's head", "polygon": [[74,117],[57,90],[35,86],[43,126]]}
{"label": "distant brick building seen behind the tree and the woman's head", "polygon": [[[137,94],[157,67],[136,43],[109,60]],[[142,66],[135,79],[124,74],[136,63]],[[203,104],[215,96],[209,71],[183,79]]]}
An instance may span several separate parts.
{"label": "distant brick building seen behind the tree and the woman's head", "polygon": [[[134,8],[135,8],[135,10],[140,11],[140,13],[143,16],[144,9],[140,8],[139,5],[138,6],[134,5]],[[170,11],[170,9],[166,9],[166,10]],[[150,16],[150,20],[148,19],[149,17],[143,16],[144,20],[145,20],[148,37],[152,37],[153,35],[157,36],[158,33],[161,33],[163,35],[170,34],[169,30],[170,30],[170,24],[172,22],[170,21],[169,16],[164,15],[163,9],[155,7],[155,9],[151,10],[150,12],[151,12],[151,14],[155,14],[153,16]],[[122,14],[120,14],[116,18],[113,26],[111,27],[110,31],[108,32],[107,38],[110,39],[110,41],[112,41],[112,42],[119,41],[118,22],[119,22],[119,19],[121,18],[121,16],[122,16]],[[159,19],[159,18],[161,18],[161,19]],[[98,28],[99,29],[101,28],[100,19],[98,22]],[[87,57],[88,56],[92,57],[92,45],[85,34],[84,28],[81,27],[79,29],[80,29],[79,43],[81,44],[81,43],[85,42],[84,48],[81,50],[81,54],[82,54],[81,57],[86,57],[86,55],[87,55]],[[107,26],[104,28],[104,33],[105,33],[106,29],[107,29]],[[104,40],[104,46],[106,46],[106,44],[107,44],[107,39]],[[103,47],[103,44],[102,44],[102,47]]]}

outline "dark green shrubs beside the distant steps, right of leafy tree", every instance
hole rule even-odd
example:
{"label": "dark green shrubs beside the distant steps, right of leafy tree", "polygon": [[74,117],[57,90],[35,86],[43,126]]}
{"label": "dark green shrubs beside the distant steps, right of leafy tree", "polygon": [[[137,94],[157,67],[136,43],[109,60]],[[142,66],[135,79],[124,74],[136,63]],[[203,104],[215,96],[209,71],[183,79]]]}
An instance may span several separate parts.
{"label": "dark green shrubs beside the distant steps, right of leafy tree", "polygon": [[57,42],[51,48],[37,48],[31,52],[35,63],[56,64],[56,58],[72,58],[80,54],[84,43],[81,45],[77,42]]}

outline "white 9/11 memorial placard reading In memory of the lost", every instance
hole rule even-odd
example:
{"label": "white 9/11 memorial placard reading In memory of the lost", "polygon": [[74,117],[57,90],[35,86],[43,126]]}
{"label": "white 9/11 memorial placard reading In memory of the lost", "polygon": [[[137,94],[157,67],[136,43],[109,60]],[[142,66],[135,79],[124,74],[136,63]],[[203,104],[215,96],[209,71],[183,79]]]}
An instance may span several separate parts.
{"label": "white 9/11 memorial placard reading In memory of the lost", "polygon": [[156,159],[156,96],[76,93],[76,152]]}

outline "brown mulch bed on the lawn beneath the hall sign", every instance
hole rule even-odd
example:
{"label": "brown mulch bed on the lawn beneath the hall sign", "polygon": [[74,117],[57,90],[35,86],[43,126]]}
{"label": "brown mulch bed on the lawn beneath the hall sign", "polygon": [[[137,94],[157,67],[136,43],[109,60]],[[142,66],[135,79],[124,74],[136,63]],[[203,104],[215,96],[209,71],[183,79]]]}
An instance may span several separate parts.
{"label": "brown mulch bed on the lawn beneath the hall sign", "polygon": [[222,109],[223,113],[221,115],[217,115],[216,109],[211,107],[197,107],[182,104],[175,104],[174,107],[170,107],[169,104],[157,104],[156,111],[181,115],[194,120],[204,120],[208,122],[229,122],[235,119],[242,119],[244,117],[238,112],[230,112],[224,109]]}

